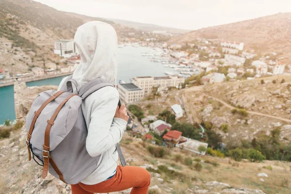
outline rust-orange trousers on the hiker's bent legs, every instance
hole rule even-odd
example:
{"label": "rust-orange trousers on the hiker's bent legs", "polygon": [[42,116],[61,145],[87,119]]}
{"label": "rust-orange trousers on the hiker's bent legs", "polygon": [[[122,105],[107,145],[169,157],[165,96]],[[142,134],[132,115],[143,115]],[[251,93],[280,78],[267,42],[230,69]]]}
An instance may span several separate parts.
{"label": "rust-orange trousers on the hiker's bent legs", "polygon": [[123,191],[132,188],[130,194],[147,194],[150,174],[138,166],[117,166],[116,174],[96,185],[78,183],[71,185],[72,194],[94,194]]}

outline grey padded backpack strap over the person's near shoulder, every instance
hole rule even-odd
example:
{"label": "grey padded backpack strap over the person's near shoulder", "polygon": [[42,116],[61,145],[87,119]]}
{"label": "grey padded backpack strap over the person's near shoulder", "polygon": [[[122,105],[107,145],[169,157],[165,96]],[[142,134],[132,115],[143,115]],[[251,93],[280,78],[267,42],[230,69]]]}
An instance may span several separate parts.
{"label": "grey padded backpack strap over the person's near shoulder", "polygon": [[82,86],[79,90],[79,97],[82,99],[85,99],[88,97],[90,94],[93,92],[105,87],[105,86],[112,86],[114,87],[111,83],[108,81],[101,79],[101,78],[96,78],[94,80],[91,80],[87,82],[84,86]]}

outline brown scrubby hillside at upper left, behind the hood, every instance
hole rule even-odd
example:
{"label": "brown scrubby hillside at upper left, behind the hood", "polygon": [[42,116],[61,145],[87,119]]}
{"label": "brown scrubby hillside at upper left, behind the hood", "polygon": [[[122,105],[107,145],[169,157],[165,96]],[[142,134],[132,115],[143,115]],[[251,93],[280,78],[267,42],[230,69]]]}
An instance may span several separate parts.
{"label": "brown scrubby hillside at upper left, behind the hood", "polygon": [[[113,21],[58,11],[32,0],[0,1],[0,69],[14,74],[27,73],[44,63],[65,67],[61,57],[53,53],[58,39],[72,39],[77,28],[85,22],[100,20],[110,23],[121,38],[148,38],[147,33]],[[130,33],[133,32],[133,33]],[[155,36],[157,40],[164,38]]]}

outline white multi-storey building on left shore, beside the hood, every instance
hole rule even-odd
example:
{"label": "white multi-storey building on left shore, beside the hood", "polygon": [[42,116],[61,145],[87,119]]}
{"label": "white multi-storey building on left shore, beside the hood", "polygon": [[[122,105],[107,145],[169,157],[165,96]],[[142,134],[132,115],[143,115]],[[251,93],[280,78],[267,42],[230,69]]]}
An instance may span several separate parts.
{"label": "white multi-storey building on left shore, beside the hood", "polygon": [[76,49],[73,40],[61,39],[54,43],[54,53],[67,58],[78,54],[78,50]]}

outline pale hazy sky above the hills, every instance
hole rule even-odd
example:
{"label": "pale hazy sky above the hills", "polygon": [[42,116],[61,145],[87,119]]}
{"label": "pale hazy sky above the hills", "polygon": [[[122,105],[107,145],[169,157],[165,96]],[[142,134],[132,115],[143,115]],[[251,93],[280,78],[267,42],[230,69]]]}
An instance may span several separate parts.
{"label": "pale hazy sky above the hills", "polygon": [[[125,19],[180,29],[291,12],[291,0],[35,0],[87,16]],[[178,4],[179,3],[179,4]]]}

